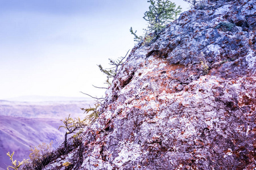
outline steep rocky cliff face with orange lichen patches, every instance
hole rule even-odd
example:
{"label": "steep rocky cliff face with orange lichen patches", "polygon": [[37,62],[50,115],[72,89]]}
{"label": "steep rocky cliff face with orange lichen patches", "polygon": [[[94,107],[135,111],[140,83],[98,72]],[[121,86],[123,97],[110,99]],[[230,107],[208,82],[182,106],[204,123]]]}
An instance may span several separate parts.
{"label": "steep rocky cliff face with orange lichen patches", "polygon": [[133,48],[100,118],[44,169],[254,169],[255,25],[255,0],[181,14]]}

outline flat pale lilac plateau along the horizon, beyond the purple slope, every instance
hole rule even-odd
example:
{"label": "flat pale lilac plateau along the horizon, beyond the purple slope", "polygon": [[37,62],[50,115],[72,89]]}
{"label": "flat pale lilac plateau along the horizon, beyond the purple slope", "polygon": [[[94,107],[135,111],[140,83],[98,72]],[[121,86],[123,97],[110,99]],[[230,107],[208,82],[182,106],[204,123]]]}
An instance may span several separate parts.
{"label": "flat pale lilac plateau along the horizon, beyond the purple slope", "polygon": [[0,101],[0,115],[27,118],[64,118],[68,114],[79,116],[80,108],[93,105],[93,100],[85,101]]}

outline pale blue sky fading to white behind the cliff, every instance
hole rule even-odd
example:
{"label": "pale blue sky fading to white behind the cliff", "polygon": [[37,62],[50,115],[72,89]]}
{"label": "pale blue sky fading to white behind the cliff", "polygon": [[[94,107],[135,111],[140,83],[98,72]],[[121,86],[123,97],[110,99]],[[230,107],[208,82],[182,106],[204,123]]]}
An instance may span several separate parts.
{"label": "pale blue sky fading to white behind the cliff", "polygon": [[[183,11],[188,4],[172,1]],[[18,96],[104,96],[99,64],[134,46],[147,0],[0,0],[0,100]]]}

